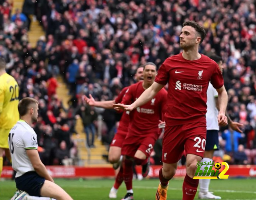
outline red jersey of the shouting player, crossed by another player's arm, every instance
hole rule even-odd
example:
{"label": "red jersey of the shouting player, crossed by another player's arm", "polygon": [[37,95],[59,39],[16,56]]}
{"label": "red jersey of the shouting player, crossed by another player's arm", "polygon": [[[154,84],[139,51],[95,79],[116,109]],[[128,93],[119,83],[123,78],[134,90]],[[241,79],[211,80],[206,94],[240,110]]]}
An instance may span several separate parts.
{"label": "red jersey of the shouting player, crossed by another player's arm", "polygon": [[[128,92],[124,95],[122,103],[126,105],[133,103],[144,91],[142,82],[131,85]],[[162,89],[151,101],[130,112],[129,129],[132,132],[138,133],[138,135],[158,134],[159,120],[163,120],[162,116],[166,111],[166,98],[167,91]]]}

